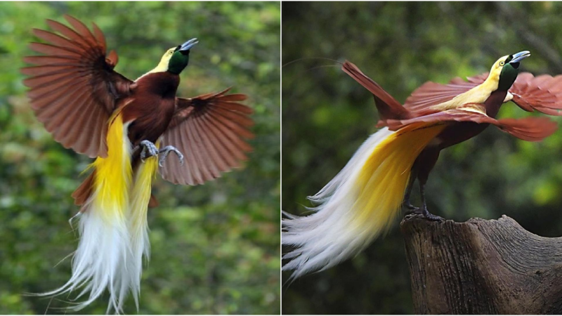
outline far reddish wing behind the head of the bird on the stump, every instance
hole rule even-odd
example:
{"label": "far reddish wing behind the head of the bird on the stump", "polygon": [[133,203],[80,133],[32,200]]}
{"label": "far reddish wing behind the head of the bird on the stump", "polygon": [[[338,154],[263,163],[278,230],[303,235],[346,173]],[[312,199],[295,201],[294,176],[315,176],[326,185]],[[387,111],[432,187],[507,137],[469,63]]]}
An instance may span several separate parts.
{"label": "far reddish wing behind the head of the bird on the stump", "polygon": [[[469,77],[468,81],[460,78],[452,79],[448,84],[426,82],[417,88],[406,99],[404,107],[412,112],[419,112],[451,100],[461,93],[482,84],[488,73],[476,77]],[[549,115],[562,115],[562,76],[556,77],[543,74],[535,77],[529,72],[518,75],[509,93],[516,105],[528,112],[539,111]]]}

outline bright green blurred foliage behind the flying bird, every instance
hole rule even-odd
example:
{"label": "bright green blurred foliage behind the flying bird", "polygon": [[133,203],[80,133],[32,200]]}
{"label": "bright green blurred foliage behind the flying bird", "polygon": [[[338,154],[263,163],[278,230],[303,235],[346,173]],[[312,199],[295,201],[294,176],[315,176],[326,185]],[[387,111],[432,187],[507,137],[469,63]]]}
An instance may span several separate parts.
{"label": "bright green blurred foliage behind the flying bird", "polygon": [[[116,70],[135,79],[166,49],[198,37],[179,95],[233,86],[254,108],[254,152],[202,186],[158,179],[149,211],[152,256],[140,314],[280,312],[280,4],[65,2],[0,4],[0,314],[63,313],[66,303],[23,296],[63,285],[77,245],[70,197],[91,162],[55,143],[34,118],[19,68],[33,27],[63,13],[103,30]],[[66,23],[66,22],[65,22]],[[56,265],[56,266],[55,266]],[[70,296],[69,298],[72,298]],[[130,298],[130,297],[129,297]],[[62,297],[66,299],[66,297]],[[50,303],[50,308],[47,306]],[[81,313],[105,313],[107,296]],[[125,312],[136,313],[132,298]]]}

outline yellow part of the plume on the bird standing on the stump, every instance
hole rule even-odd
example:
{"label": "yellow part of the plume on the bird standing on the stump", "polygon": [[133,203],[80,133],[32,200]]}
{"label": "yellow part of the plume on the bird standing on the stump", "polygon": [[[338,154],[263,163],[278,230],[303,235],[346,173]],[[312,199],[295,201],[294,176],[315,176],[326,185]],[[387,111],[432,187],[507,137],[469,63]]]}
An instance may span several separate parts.
{"label": "yellow part of the plume on the bird standing on the stump", "polygon": [[390,228],[398,215],[410,169],[426,145],[445,125],[412,124],[391,134],[371,153],[356,180],[352,229],[369,230],[372,237]]}

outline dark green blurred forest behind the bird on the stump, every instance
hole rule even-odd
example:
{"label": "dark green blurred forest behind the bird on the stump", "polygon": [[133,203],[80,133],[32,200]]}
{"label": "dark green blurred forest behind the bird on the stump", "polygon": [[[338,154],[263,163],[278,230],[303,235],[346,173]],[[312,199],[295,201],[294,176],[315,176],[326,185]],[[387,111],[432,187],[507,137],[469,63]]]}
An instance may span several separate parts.
{"label": "dark green blurred forest behind the bird on the stump", "polygon": [[[320,58],[354,62],[403,102],[425,81],[481,74],[523,50],[531,51],[523,71],[562,73],[561,16],[551,2],[283,3],[282,209],[304,213],[306,196],[377,131],[372,95]],[[513,103],[499,112],[528,115]],[[562,129],[528,143],[489,128],[441,152],[426,191],[429,210],[447,219],[506,214],[535,234],[562,236]],[[417,190],[413,198],[419,204]],[[285,284],[282,297],[284,314],[412,313],[398,221],[353,260]]]}

